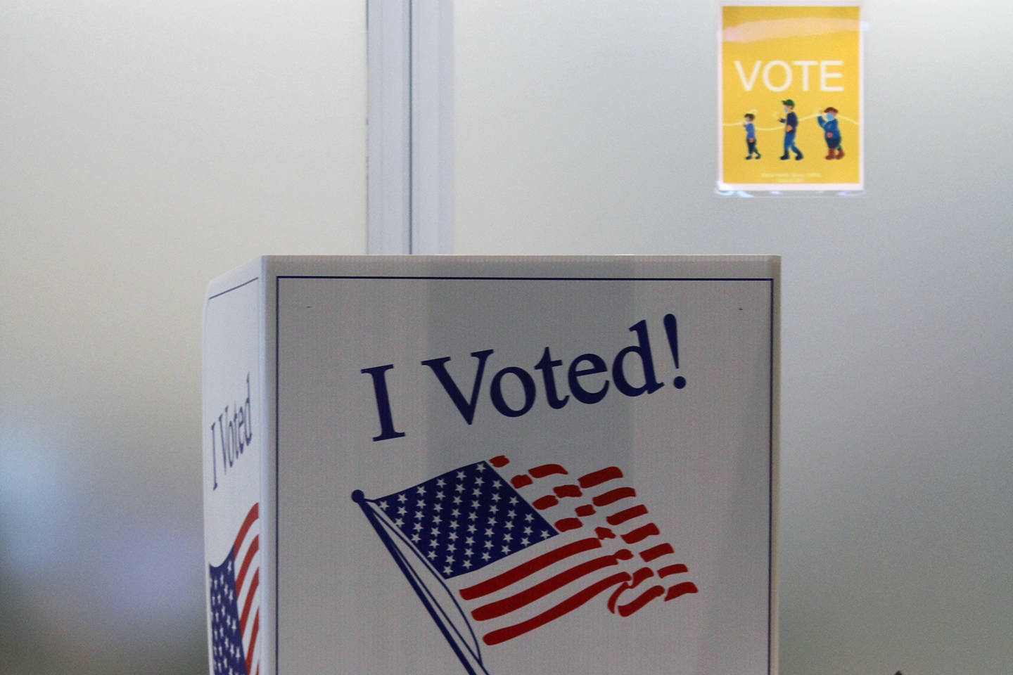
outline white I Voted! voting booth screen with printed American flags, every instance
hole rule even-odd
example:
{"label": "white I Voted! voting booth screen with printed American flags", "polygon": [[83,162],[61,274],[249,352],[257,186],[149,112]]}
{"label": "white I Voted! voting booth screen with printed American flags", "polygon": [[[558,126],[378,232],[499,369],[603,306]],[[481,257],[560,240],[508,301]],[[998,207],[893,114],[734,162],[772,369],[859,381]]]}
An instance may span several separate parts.
{"label": "white I Voted! voting booth screen with printed American flags", "polygon": [[264,257],[213,281],[211,672],[776,672],[779,266]]}

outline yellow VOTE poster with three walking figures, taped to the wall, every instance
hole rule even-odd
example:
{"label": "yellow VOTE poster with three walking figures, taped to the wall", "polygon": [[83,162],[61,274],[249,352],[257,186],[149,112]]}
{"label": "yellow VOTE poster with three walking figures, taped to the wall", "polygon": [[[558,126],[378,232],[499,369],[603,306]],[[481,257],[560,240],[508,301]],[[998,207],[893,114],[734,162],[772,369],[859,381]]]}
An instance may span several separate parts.
{"label": "yellow VOTE poster with three walking figures, taped to the wall", "polygon": [[857,192],[857,5],[721,6],[718,190]]}

